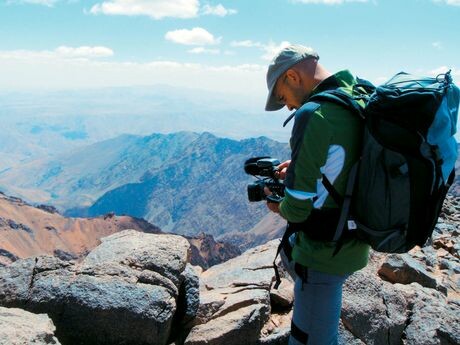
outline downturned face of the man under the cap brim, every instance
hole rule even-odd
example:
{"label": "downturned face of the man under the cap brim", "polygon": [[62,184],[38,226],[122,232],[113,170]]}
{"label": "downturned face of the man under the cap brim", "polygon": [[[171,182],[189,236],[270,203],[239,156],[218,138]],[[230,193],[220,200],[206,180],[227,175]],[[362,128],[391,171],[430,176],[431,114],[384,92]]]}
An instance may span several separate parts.
{"label": "downturned face of the man under the cap brim", "polygon": [[278,79],[274,93],[278,103],[285,105],[290,111],[299,109],[307,97],[299,80],[293,79],[288,72],[283,73]]}

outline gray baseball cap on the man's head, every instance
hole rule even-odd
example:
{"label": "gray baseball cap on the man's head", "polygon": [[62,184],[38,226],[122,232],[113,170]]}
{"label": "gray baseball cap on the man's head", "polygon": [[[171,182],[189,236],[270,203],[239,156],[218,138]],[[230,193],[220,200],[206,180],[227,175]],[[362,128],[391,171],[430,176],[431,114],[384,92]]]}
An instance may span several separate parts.
{"label": "gray baseball cap on the man's head", "polygon": [[274,57],[267,71],[268,97],[265,110],[273,111],[283,107],[273,95],[273,89],[275,88],[278,78],[298,62],[311,58],[318,60],[318,53],[312,48],[297,44],[287,46]]}

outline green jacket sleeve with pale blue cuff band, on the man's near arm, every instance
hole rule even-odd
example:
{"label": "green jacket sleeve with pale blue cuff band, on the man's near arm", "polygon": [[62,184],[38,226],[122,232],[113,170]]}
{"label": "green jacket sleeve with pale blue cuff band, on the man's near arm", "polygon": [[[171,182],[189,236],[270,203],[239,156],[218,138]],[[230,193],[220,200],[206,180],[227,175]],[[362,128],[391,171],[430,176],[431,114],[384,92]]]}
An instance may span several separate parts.
{"label": "green jacket sleeve with pale blue cuff band, on the man's near arm", "polygon": [[326,164],[332,128],[316,103],[307,103],[296,113],[292,129],[291,163],[284,184],[280,213],[292,223],[305,221],[317,198],[321,168]]}

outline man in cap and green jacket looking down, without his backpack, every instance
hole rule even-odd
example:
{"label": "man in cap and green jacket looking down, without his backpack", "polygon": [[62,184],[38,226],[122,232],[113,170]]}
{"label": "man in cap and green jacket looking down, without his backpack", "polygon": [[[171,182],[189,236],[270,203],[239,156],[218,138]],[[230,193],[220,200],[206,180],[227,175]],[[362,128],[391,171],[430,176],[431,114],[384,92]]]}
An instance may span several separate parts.
{"label": "man in cap and green jacket looking down, without his backpack", "polygon": [[344,195],[350,168],[359,157],[363,128],[360,119],[344,107],[308,102],[312,95],[330,89],[351,94],[356,84],[350,72],[331,74],[318,60],[312,49],[292,45],[281,50],[267,72],[265,109],[296,110],[291,160],[279,167],[285,197],[280,203],[267,203],[289,226],[300,230],[292,249],[297,276],[290,345],[337,344],[343,283],[366,266],[369,254],[369,246],[352,237],[334,253],[336,243],[326,235],[335,231],[337,223],[331,219],[336,219],[339,208],[322,176]]}

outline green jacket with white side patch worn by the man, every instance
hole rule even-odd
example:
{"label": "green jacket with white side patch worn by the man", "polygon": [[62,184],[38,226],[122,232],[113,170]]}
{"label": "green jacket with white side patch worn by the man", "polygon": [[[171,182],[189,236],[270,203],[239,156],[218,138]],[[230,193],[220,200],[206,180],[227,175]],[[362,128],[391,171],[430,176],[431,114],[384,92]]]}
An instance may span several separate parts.
{"label": "green jacket with white side patch worn by the man", "polygon": [[[340,71],[322,81],[311,95],[337,87],[351,94],[354,84],[349,71]],[[330,102],[307,102],[297,110],[285,198],[280,203],[284,218],[300,223],[313,208],[337,207],[321,182],[322,174],[344,194],[349,171],[359,158],[362,126],[356,115]],[[314,241],[299,232],[292,256],[306,267],[330,274],[349,274],[367,265],[369,246],[359,240],[347,240],[336,256],[334,250],[334,243]]]}

